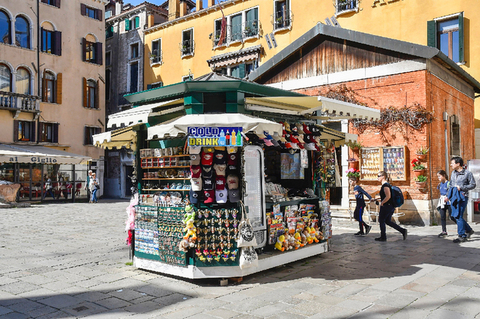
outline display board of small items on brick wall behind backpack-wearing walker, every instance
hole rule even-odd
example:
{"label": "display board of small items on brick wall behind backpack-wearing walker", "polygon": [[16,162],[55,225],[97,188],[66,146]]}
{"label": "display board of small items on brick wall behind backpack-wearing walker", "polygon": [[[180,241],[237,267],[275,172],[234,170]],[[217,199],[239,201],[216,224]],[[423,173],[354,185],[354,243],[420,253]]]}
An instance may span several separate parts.
{"label": "display board of small items on brick wall behind backpack-wearing walker", "polygon": [[405,181],[405,146],[364,147],[360,152],[360,180],[376,181],[385,171],[392,181]]}

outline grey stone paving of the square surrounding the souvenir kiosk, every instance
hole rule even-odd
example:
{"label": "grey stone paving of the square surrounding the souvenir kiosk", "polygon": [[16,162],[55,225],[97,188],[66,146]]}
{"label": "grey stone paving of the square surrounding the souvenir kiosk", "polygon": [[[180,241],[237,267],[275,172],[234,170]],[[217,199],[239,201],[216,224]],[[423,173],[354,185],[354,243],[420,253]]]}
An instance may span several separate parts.
{"label": "grey stone paving of the square surrounding the souvenir kiosk", "polygon": [[0,318],[480,318],[480,227],[334,220],[332,251],[245,277],[191,281],[128,265],[127,202],[1,209]]}

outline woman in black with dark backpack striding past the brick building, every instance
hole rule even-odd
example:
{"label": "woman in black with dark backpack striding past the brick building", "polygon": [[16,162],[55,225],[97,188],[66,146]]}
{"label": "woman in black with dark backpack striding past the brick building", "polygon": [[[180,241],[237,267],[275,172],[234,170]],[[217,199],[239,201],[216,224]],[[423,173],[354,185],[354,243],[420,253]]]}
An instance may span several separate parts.
{"label": "woman in black with dark backpack striding past the brick building", "polygon": [[387,241],[385,224],[398,230],[403,235],[403,240],[405,240],[407,239],[407,230],[392,221],[395,206],[393,206],[392,186],[388,183],[387,173],[384,171],[378,172],[378,180],[382,183],[382,188],[380,188],[381,201],[377,201],[377,205],[380,205],[380,213],[378,215],[378,221],[380,222],[380,237],[375,238],[375,240]]}

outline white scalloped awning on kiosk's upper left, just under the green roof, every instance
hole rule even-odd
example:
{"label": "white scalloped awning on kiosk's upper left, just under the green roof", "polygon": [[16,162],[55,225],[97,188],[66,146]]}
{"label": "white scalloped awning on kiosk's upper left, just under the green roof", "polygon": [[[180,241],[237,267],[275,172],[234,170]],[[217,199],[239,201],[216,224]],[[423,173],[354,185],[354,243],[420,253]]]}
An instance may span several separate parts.
{"label": "white scalloped awning on kiosk's upper left, just under the green roof", "polygon": [[148,117],[152,113],[153,109],[158,107],[164,108],[176,104],[183,105],[183,99],[146,104],[111,114],[108,116],[107,128],[111,128],[113,126],[124,127],[138,123],[148,123]]}

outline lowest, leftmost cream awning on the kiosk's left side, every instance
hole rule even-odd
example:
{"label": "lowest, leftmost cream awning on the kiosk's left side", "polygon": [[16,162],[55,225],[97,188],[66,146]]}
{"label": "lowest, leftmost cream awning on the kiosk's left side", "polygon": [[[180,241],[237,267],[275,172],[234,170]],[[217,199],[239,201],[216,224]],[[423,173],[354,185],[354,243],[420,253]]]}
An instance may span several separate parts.
{"label": "lowest, leftmost cream awning on the kiosk's left side", "polygon": [[93,135],[93,145],[106,149],[121,149],[122,147],[136,150],[137,132],[133,126]]}

